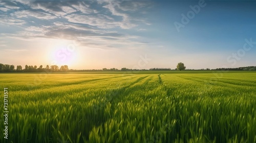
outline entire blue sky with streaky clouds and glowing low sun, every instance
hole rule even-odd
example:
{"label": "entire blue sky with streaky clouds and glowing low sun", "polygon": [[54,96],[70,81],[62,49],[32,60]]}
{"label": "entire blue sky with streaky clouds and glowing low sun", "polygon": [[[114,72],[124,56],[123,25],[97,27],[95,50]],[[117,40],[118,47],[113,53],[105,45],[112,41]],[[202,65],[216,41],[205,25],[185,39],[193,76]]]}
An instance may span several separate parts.
{"label": "entire blue sky with streaky clouds and glowing low sun", "polygon": [[0,63],[256,65],[255,1],[1,1]]}

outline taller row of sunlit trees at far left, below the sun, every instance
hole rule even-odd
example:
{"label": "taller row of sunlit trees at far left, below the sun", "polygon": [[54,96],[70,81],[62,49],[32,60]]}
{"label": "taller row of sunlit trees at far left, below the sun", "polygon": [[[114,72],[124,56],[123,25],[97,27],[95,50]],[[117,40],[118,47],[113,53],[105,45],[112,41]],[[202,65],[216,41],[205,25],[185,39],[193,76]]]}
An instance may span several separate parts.
{"label": "taller row of sunlit trees at far left, below the sun", "polygon": [[40,65],[38,68],[36,65],[25,65],[23,69],[21,65],[17,65],[16,68],[14,65],[2,64],[0,63],[0,72],[1,73],[36,73],[36,72],[56,72],[56,71],[68,71],[68,65],[62,65],[60,68],[57,65],[47,65],[46,67],[42,67]]}

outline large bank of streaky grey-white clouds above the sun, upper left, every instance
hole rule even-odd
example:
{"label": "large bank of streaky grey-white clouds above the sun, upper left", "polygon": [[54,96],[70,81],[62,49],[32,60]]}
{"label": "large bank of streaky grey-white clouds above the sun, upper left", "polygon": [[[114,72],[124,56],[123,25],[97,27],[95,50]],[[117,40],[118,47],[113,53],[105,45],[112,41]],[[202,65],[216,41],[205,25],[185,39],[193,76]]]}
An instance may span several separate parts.
{"label": "large bank of streaky grey-white clouds above the sun, upper left", "polygon": [[[148,25],[148,22],[132,14],[139,13],[146,6],[148,4],[141,2],[4,1],[0,3],[0,12],[4,13],[0,16],[0,23],[20,26],[15,33],[3,33],[9,38],[20,40],[77,39],[78,35],[83,35],[82,45],[88,43],[84,39],[90,39],[91,45],[102,42],[99,45],[102,47],[136,45],[141,43],[122,30],[145,31],[136,27]],[[108,44],[106,41],[109,41]]]}

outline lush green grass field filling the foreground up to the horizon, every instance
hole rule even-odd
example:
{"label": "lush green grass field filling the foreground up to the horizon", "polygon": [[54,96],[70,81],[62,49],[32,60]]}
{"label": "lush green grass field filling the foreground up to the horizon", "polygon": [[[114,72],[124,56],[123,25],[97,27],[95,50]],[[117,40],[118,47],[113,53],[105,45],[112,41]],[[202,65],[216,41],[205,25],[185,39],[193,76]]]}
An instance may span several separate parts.
{"label": "lush green grass field filling the foreground up to the horizon", "polygon": [[0,87],[0,142],[256,142],[255,72],[0,74]]}

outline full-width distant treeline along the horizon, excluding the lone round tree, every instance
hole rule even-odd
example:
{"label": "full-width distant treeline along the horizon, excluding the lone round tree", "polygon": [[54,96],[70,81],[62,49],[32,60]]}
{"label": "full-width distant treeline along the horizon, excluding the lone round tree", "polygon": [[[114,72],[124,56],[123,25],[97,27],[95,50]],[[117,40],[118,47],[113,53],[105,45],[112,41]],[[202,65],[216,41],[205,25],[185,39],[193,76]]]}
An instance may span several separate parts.
{"label": "full-width distant treeline along the horizon, excluding the lone round tree", "polygon": [[[123,67],[121,69],[117,68],[102,68],[102,69],[69,69],[68,65],[62,65],[60,68],[57,65],[47,65],[46,67],[43,67],[40,65],[37,67],[36,65],[25,65],[25,68],[23,68],[21,65],[17,65],[16,68],[14,65],[9,64],[2,64],[0,63],[0,73],[36,73],[36,72],[57,72],[57,71],[70,71],[70,72],[77,72],[77,71],[148,71],[148,70],[177,70],[170,69],[170,68],[150,68],[150,69],[129,69],[126,67]],[[216,68],[216,69],[185,69],[185,70],[256,70],[256,66],[246,66],[246,67],[238,67],[238,68]]]}

